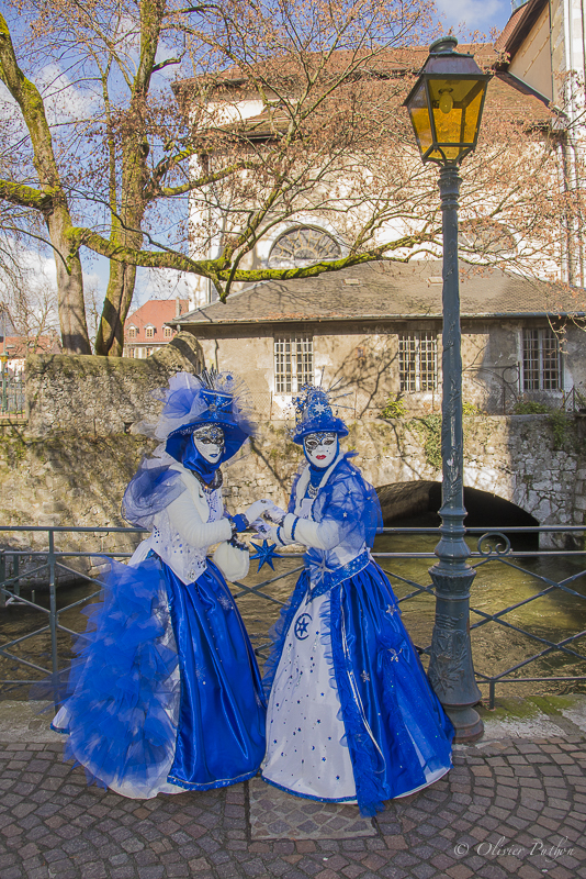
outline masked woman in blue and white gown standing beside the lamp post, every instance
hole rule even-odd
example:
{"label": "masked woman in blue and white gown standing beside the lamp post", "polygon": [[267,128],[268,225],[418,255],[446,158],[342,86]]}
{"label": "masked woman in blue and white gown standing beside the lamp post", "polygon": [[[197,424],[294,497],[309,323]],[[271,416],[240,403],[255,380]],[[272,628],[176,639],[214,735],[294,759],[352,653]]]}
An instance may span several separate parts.
{"label": "masked woman in blue and white gown standing beside the lamp post", "polygon": [[262,778],[372,815],[449,770],[453,727],[370,554],[381,511],[351,454],[339,449],[348,430],[322,389],[309,387],[296,402],[293,438],[307,463],[270,536],[307,553],[266,666]]}

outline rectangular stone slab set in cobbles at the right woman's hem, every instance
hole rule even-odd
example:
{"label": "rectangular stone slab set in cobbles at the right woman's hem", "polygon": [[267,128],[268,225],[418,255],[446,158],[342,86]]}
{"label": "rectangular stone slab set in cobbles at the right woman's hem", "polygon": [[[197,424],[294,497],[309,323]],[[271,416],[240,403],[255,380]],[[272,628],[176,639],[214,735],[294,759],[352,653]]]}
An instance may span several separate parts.
{"label": "rectangular stone slab set in cobbles at the right woman's hem", "polygon": [[377,834],[356,805],[292,797],[260,778],[249,782],[248,791],[252,839],[356,839]]}

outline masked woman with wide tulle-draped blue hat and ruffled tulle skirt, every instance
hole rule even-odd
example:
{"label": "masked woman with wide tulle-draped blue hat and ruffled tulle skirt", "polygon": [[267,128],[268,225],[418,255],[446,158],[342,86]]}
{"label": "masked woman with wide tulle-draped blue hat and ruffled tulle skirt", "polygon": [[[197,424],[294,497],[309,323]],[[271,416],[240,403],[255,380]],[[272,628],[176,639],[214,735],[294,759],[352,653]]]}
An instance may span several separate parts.
{"label": "masked woman with wide tulle-draped blue hat and ruffled tulle skirt", "polygon": [[213,372],[179,374],[164,392],[158,424],[143,431],[164,444],[123,501],[151,534],[128,565],[112,563],[53,722],[68,735],[65,758],[125,797],[234,785],[264,754],[259,671],[225,579],[248,572],[236,534],[271,507],[224,510],[219,465],[252,431],[241,393]]}

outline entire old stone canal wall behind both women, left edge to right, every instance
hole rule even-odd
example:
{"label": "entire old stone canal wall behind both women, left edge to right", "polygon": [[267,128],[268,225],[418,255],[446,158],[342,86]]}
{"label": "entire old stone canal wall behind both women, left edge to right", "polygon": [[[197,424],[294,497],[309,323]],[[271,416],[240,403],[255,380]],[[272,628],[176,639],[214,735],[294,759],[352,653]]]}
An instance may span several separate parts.
{"label": "entire old stone canal wall behind both women, left edge to right", "polygon": [[[172,345],[168,352],[176,357]],[[32,412],[36,407],[30,425],[33,430],[24,432],[13,426],[0,436],[0,524],[124,526],[120,513],[124,489],[143,455],[154,448],[153,441],[126,433],[125,426],[127,421],[144,416],[145,403],[153,407],[147,409],[148,414],[156,416],[157,404],[150,402],[148,391],[166,383],[177,368],[190,367],[190,361],[174,359],[166,375],[159,366],[148,374],[148,380],[142,369],[144,361],[119,364],[123,387],[116,390],[106,386],[108,399],[117,399],[119,410],[109,413],[103,407],[103,416],[95,418],[94,427],[94,415],[88,414],[89,402],[83,402],[83,389],[76,386],[75,376],[57,377],[56,390],[50,390],[49,371],[56,369],[55,359],[36,363],[33,387],[38,396],[31,404]],[[88,367],[83,364],[77,371],[92,400],[105,381],[103,374],[91,371],[93,368],[91,363]],[[133,374],[125,371],[133,368],[135,385]],[[111,375],[115,375],[114,370],[115,367]],[[70,399],[78,401],[76,407],[81,409],[76,418],[75,412],[68,416],[67,405],[59,402],[67,381]],[[124,400],[129,403],[122,413]],[[74,403],[69,408],[72,410]],[[465,416],[465,486],[517,504],[540,524],[584,524],[584,422],[579,418],[555,422],[549,415]],[[106,432],[106,426],[114,423],[119,429]],[[367,479],[376,488],[403,487],[401,496],[396,491],[382,492],[387,521],[401,514],[399,501],[402,509],[408,508],[409,492],[417,507],[417,492],[424,502],[429,485],[441,480],[437,416],[365,420],[349,426],[350,435],[343,445],[359,452],[356,463]],[[301,460],[302,452],[289,438],[285,425],[262,422],[259,436],[225,468],[225,499],[230,512],[244,511],[262,497],[285,505]],[[31,549],[45,548],[46,539],[46,532],[0,534],[0,544]],[[88,553],[132,552],[138,539],[139,535],[129,534],[63,533],[57,535],[57,545],[64,550]]]}

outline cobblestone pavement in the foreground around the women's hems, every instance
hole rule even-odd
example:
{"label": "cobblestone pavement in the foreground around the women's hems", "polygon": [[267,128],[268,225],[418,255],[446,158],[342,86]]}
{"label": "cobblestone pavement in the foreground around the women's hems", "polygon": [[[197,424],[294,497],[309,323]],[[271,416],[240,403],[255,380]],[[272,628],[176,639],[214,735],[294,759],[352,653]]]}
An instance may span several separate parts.
{"label": "cobblestone pavement in the foreground around the women's hems", "polygon": [[246,785],[138,802],[88,788],[58,743],[1,745],[0,761],[1,879],[586,878],[583,736],[460,747],[376,835],[342,839],[252,841]]}

